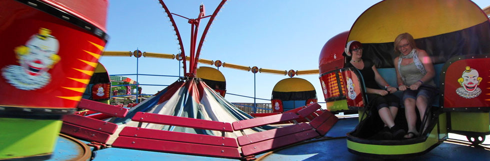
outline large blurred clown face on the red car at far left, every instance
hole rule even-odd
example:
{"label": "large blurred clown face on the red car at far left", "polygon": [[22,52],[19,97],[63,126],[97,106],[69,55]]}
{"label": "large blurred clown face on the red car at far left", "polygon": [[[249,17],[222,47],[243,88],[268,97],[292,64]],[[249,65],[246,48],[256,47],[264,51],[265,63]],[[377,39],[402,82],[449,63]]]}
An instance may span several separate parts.
{"label": "large blurred clown face on the red car at far left", "polygon": [[12,86],[22,90],[35,90],[44,87],[51,80],[47,72],[58,61],[58,40],[50,35],[51,30],[40,28],[25,45],[14,49],[19,65],[7,65],[2,76]]}

